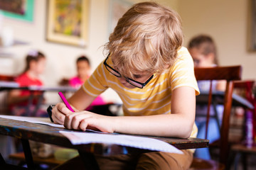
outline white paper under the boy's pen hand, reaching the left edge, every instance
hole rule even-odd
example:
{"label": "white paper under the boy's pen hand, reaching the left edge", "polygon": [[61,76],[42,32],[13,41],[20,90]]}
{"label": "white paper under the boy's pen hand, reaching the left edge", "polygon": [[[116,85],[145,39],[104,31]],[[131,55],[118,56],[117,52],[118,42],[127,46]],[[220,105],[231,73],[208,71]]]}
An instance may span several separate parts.
{"label": "white paper under the boy's pen hand, reaching the left edge", "polygon": [[27,117],[27,116],[18,116],[18,115],[0,115],[0,118],[8,118],[12,120],[25,121],[29,123],[39,123],[43,125],[50,125],[57,128],[64,128],[63,125],[50,122],[50,118]]}

